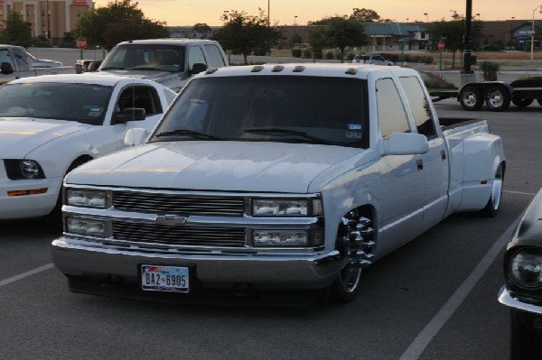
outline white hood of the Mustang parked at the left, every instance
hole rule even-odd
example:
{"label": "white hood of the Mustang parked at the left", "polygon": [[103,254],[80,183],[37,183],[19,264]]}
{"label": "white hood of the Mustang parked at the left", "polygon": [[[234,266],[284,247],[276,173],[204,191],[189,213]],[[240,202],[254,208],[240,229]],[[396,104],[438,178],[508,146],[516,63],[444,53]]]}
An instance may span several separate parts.
{"label": "white hood of the Mustang parked at the left", "polygon": [[3,159],[22,159],[44,143],[88,127],[72,121],[0,118],[0,156]]}

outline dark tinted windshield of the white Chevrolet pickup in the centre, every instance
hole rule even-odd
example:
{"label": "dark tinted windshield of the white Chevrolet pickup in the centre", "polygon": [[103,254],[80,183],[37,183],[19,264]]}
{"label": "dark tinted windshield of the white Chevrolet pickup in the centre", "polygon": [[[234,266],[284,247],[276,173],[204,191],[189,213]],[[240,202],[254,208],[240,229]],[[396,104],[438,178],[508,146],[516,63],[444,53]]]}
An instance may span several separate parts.
{"label": "dark tinted windshield of the white Chevrolet pickup in the centre", "polygon": [[151,141],[236,140],[369,145],[367,81],[245,76],[194,79]]}

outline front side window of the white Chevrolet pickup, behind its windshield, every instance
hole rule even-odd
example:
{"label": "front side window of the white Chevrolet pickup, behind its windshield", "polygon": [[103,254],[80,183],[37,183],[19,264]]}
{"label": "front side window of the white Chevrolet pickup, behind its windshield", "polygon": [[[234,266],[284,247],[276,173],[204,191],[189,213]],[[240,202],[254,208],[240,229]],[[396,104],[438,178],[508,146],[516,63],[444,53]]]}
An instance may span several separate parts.
{"label": "front side window of the white Chevrolet pickup, behind its windshield", "polygon": [[388,140],[391,133],[410,131],[405,107],[391,78],[377,81],[378,128],[382,139]]}

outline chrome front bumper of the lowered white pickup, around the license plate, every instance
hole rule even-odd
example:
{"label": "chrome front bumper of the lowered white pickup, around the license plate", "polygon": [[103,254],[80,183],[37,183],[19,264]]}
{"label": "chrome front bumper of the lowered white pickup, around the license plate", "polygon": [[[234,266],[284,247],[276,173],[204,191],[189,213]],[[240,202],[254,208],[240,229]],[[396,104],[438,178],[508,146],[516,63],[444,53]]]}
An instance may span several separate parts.
{"label": "chrome front bumper of the lowered white pickup, around the license plate", "polygon": [[344,261],[337,251],[303,254],[210,252],[164,254],[82,244],[62,236],[52,242],[52,261],[78,279],[139,283],[141,264],[190,266],[203,287],[248,283],[261,289],[321,289],[332,284]]}

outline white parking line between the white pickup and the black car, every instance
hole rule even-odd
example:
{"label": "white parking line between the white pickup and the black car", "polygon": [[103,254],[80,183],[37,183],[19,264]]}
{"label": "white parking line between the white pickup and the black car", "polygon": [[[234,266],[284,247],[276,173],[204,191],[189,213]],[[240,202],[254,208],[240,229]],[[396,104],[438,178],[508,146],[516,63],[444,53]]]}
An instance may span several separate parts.
{"label": "white parking line between the white pickup and the black car", "polygon": [[[433,340],[433,338],[438,334],[441,328],[444,327],[444,324],[448,319],[452,318],[453,313],[459,306],[463,303],[463,300],[469,295],[472,291],[474,285],[480,281],[481,277],[488,268],[491,266],[491,263],[495,261],[500,252],[504,249],[504,246],[509,242],[510,235],[514,231],[514,228],[518,225],[519,219],[523,214],[521,214],[516,221],[509,226],[509,228],[499,237],[499,240],[491,246],[491,249],[484,255],[481,259],[481,262],[478,263],[476,268],[471,272],[469,277],[461,284],[461,286],[453,293],[452,297],[444,304],[444,306],[436,313],[435,317],[429,321],[425,328],[418,334],[414,339],[412,344],[406,348],[405,353],[401,355],[399,360],[415,360],[422,355],[425,351],[425,348]],[[497,301],[497,291],[495,289],[495,301]]]}

